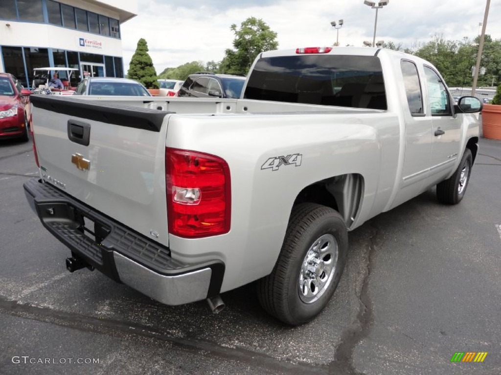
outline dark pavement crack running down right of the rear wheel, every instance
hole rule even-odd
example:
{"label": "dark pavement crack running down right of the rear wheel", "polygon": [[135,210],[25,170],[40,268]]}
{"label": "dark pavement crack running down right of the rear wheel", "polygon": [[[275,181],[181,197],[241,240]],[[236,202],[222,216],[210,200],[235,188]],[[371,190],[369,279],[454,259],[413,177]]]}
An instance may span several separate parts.
{"label": "dark pavement crack running down right of the rear wheel", "polygon": [[379,235],[379,227],[374,221],[369,221],[372,226],[372,233],[369,238],[369,248],[364,266],[364,277],[362,287],[358,299],[360,301],[360,309],[357,313],[357,321],[350,327],[346,328],[341,334],[341,340],[336,347],[335,359],[329,364],[329,373],[331,374],[347,374],[347,375],[364,375],[362,372],[357,372],[353,366],[353,352],[357,344],[366,338],[374,322],[372,301],[369,294],[369,278],[372,271],[374,261],[374,251]]}

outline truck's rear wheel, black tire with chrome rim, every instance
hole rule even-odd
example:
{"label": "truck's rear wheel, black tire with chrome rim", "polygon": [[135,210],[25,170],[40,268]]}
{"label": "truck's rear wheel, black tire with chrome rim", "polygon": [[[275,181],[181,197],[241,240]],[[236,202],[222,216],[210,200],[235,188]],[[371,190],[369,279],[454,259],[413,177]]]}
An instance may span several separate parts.
{"label": "truck's rear wheel, black tire with chrome rim", "polygon": [[336,290],[347,252],[348,231],[338,212],[316,203],[298,204],[272,273],[258,281],[261,305],[290,325],[310,321]]}

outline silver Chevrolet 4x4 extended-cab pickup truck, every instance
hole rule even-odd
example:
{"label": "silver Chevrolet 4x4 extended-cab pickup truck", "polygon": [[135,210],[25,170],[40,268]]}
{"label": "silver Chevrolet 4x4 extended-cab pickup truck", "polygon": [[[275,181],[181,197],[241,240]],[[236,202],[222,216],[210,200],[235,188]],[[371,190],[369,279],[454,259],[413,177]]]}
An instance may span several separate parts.
{"label": "silver Chevrolet 4x4 extended-cab pickup truck", "polygon": [[261,53],[239,99],[31,99],[24,188],[70,271],[214,311],[256,281],[292,325],[328,303],[349,230],[434,185],[463,198],[482,106],[425,60],[355,47]]}

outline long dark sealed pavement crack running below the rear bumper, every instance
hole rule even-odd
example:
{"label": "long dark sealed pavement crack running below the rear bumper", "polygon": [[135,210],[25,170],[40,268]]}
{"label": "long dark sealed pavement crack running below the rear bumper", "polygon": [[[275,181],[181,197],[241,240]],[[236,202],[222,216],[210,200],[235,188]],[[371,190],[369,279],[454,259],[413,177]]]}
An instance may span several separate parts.
{"label": "long dark sealed pavement crack running below the rear bumper", "polygon": [[259,368],[266,369],[267,371],[271,369],[277,373],[292,375],[324,374],[327,370],[325,365],[285,361],[246,348],[221,346],[217,342],[193,337],[178,337],[162,327],[97,316],[87,316],[76,312],[60,311],[50,307],[20,303],[17,300],[5,299],[2,296],[0,296],[0,313],[49,324],[56,324],[84,332],[93,332],[110,336],[134,334],[153,338],[169,342],[171,345],[193,351],[194,353],[199,353],[202,350],[222,359],[231,359],[246,363],[249,366],[255,367],[257,373],[260,372]]}

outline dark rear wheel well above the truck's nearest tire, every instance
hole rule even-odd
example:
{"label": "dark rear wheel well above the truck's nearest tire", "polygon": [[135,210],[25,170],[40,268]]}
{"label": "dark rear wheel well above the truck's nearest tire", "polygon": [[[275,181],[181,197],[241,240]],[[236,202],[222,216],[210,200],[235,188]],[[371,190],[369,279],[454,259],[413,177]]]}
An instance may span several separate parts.
{"label": "dark rear wheel well above the truck's nearest tire", "polygon": [[363,192],[360,174],[342,174],[306,186],[296,197],[294,205],[311,202],[338,211],[349,228],[358,214]]}

